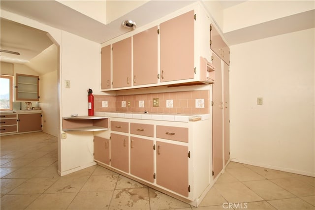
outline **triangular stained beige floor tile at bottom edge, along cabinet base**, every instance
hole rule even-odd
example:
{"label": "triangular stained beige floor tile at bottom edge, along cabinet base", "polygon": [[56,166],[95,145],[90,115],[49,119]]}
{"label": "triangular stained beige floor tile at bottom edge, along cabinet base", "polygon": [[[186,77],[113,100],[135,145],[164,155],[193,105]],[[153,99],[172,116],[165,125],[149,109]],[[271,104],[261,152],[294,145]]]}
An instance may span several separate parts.
{"label": "triangular stained beige floor tile at bottom edge, along cabinet base", "polygon": [[164,193],[158,192],[152,188],[149,188],[149,195],[151,210],[185,209],[190,207],[189,204]]}

